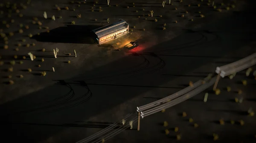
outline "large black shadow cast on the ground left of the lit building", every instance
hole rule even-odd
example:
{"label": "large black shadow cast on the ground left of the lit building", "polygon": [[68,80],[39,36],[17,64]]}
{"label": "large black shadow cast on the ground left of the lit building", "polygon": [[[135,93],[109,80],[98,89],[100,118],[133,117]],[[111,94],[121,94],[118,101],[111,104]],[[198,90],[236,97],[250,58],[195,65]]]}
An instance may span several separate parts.
{"label": "large black shadow cast on the ground left of the lit building", "polygon": [[32,38],[40,42],[96,44],[94,41],[96,35],[91,30],[99,27],[102,26],[66,25],[52,29],[49,33],[44,32],[40,35],[34,35]]}

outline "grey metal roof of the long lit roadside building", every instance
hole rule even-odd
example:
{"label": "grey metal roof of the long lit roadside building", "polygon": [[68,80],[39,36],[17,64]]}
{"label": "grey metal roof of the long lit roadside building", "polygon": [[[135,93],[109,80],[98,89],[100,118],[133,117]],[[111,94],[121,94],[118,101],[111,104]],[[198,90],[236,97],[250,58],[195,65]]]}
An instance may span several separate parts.
{"label": "grey metal roof of the long lit roadside building", "polygon": [[113,32],[127,28],[127,25],[128,23],[125,20],[120,19],[118,22],[115,22],[111,25],[106,25],[101,28],[97,28],[93,30],[93,32],[100,38]]}

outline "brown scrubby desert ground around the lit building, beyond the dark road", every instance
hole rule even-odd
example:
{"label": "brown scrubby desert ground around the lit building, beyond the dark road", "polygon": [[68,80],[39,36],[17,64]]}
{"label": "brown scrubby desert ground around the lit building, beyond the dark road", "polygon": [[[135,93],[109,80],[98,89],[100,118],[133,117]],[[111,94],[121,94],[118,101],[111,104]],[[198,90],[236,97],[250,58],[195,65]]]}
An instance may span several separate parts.
{"label": "brown scrubby desert ground around the lit building, beyond the dark road", "polygon": [[[44,2],[32,0],[29,3],[26,1],[15,2],[17,6],[12,7],[14,2],[9,0],[9,5],[3,3],[3,14],[1,14],[1,19],[6,21],[10,27],[6,28],[6,24],[1,25],[2,33],[6,34],[8,38],[4,41],[6,42],[4,45],[8,45],[8,49],[1,49],[0,55],[1,61],[4,63],[1,66],[1,87],[3,88],[0,91],[0,103],[43,89],[53,84],[52,79],[69,79],[84,73],[84,71],[92,70],[95,67],[119,59],[124,56],[124,53],[117,53],[113,49],[122,48],[122,45],[129,41],[140,39],[141,45],[145,44],[145,47],[148,48],[174,38],[183,33],[183,29],[200,27],[210,19],[215,20],[213,17],[225,17],[232,11],[244,8],[245,4],[244,1],[238,1],[236,8],[231,8],[231,5],[235,4],[233,1],[224,2],[229,3],[231,8],[229,12],[225,10],[227,6],[221,6],[220,2],[215,1],[217,8],[223,9],[222,12],[218,12],[207,6],[206,0],[203,2],[186,0],[183,3],[172,1],[173,5],[166,4],[165,8],[157,0],[152,0],[152,2],[141,0],[134,5],[130,1],[111,0],[111,6],[107,6],[104,0],[100,0],[97,4],[93,0],[87,0],[86,3],[83,0],[44,0]],[[23,3],[23,5],[20,6],[20,3]],[[201,3],[201,6],[196,6],[199,3]],[[190,7],[189,4],[191,4]],[[9,11],[6,5],[12,10]],[[55,5],[61,10],[58,11]],[[65,10],[65,7],[68,7],[69,10]],[[91,11],[92,7],[93,12]],[[98,11],[99,7],[102,7],[103,12]],[[175,7],[177,10],[175,10]],[[19,13],[17,13],[17,9]],[[151,10],[154,11],[154,17],[147,16]],[[47,19],[43,17],[44,11],[47,12]],[[189,13],[186,14],[185,11]],[[204,14],[205,17],[199,17],[198,11],[201,11],[201,14]],[[20,14],[22,14],[22,17]],[[77,14],[81,14],[80,19],[76,18]],[[181,17],[182,14],[185,16]],[[53,15],[55,21],[51,19]],[[162,15],[162,17],[159,15]],[[86,34],[83,36],[81,29],[107,25],[108,23],[105,20],[107,18],[110,18],[110,22],[115,22],[118,19],[126,20],[133,30],[132,34],[103,45],[93,44],[90,39],[87,40]],[[158,22],[154,22],[154,19],[157,19]],[[189,21],[191,19],[194,21]],[[13,23],[12,20],[14,20]],[[178,23],[175,23],[175,20]],[[38,21],[42,23],[41,26],[38,25]],[[71,21],[75,21],[76,25],[70,25]],[[167,29],[165,31],[162,30],[164,23],[166,23]],[[22,28],[20,28],[20,24],[23,24]],[[69,26],[65,27],[65,25]],[[26,27],[28,29],[24,28],[25,26],[28,26]],[[136,28],[133,28],[134,26]],[[44,33],[48,31],[48,28],[49,33],[45,36]],[[145,28],[145,31],[142,31],[143,28]],[[19,29],[23,30],[22,34],[18,33]],[[9,36],[10,32],[13,32],[14,36]],[[37,35],[38,33],[41,35]],[[34,36],[29,38],[29,34]],[[26,47],[27,44],[29,44],[29,47]],[[18,51],[15,50],[16,48]],[[46,49],[45,52],[41,51],[43,48]],[[55,48],[59,49],[57,59],[53,58],[53,49]],[[78,56],[76,58],[73,50],[77,52]],[[27,55],[29,52],[36,56],[34,61],[29,59]],[[68,56],[68,53],[71,53],[71,56]],[[15,55],[17,59],[14,58]],[[22,59],[23,56],[26,56],[26,59]],[[41,62],[42,58],[44,58],[44,62]],[[10,65],[13,60],[16,64]],[[67,64],[68,60],[71,61],[71,64]],[[19,64],[20,61],[23,64]],[[41,67],[38,67],[38,64]],[[10,67],[13,67],[13,72],[8,72]],[[52,72],[52,67],[55,68],[55,72]],[[31,73],[26,71],[28,68],[32,69]],[[41,77],[42,71],[46,71],[47,76]],[[23,78],[20,78],[20,75]],[[11,76],[12,78],[10,78]],[[14,81],[15,84],[8,85],[9,80]]]}

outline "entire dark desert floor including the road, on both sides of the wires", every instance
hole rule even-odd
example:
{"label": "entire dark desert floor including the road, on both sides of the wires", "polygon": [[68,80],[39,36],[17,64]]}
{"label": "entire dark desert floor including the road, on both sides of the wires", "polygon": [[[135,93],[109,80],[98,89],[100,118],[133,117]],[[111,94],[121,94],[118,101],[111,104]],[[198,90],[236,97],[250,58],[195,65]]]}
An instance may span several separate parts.
{"label": "entire dark desert floor including the road, on both sides of the wires", "polygon": [[[3,140],[23,140],[29,143],[74,143],[101,129],[84,125],[85,122],[102,122],[104,127],[106,124],[121,120],[128,113],[134,112],[137,106],[175,93],[183,89],[184,84],[187,85],[189,81],[197,81],[202,76],[207,76],[208,73],[214,72],[216,66],[220,64],[227,64],[256,52],[255,43],[252,42],[255,36],[252,30],[254,23],[248,14],[251,11],[239,11],[245,8],[244,1],[237,1],[236,8],[231,8],[230,11],[225,10],[226,6],[221,6],[220,2],[215,1],[218,7],[223,8],[222,12],[214,11],[213,8],[206,5],[207,1],[205,0],[203,2],[187,0],[183,3],[173,1],[174,5],[166,4],[165,8],[161,7],[159,2],[154,4],[157,0],[147,1],[146,4],[143,1],[137,2],[134,4],[135,7],[132,3],[119,1],[117,1],[119,3],[116,7],[115,4],[112,4],[115,3],[114,0],[111,0],[111,7],[109,7],[102,4],[105,3],[104,1],[99,1],[99,4],[95,4],[96,8],[99,5],[104,12],[92,12],[93,3],[90,3],[89,0],[86,4],[81,1],[80,7],[77,2],[79,1],[74,1],[74,4],[68,3],[68,1],[46,1],[44,3],[32,1],[31,7],[29,5],[27,9],[22,10],[23,18],[25,19],[26,16],[26,22],[29,29],[32,30],[25,31],[24,29],[26,34],[15,33],[17,36],[8,40],[9,48],[1,49],[1,60],[5,62],[1,66],[1,76],[4,77],[1,79],[4,82],[1,84],[1,103],[10,101],[0,106],[0,121],[3,131],[6,132]],[[24,3],[26,2],[24,1]],[[191,3],[190,7],[187,6],[189,3]],[[202,5],[194,6],[198,3],[202,3]],[[34,6],[32,6],[33,4]],[[60,8],[69,6],[70,10],[57,11],[55,4]],[[42,10],[35,13],[30,12],[35,11],[38,7]],[[173,9],[175,7],[177,10]],[[73,8],[76,10],[72,11]],[[116,8],[118,12],[113,11],[112,8]],[[143,12],[142,8],[145,8],[146,12]],[[135,12],[136,10],[138,12]],[[143,20],[143,13],[147,15],[149,10],[154,10],[154,17],[145,16],[147,20],[145,18]],[[180,17],[186,10],[189,13],[185,13],[185,17]],[[44,11],[47,11],[48,17],[55,15],[55,17],[62,16],[62,19],[55,21],[44,19]],[[198,11],[201,11],[205,17],[197,17],[200,16]],[[82,14],[81,19],[75,17],[78,13]],[[138,18],[140,14],[141,16]],[[162,18],[158,17],[160,14],[163,15]],[[49,27],[49,34],[53,33],[49,35],[50,37],[62,35],[62,37],[67,36],[74,41],[61,38],[44,39],[45,37],[40,38],[40,35],[35,36],[38,32],[45,32],[47,29],[40,30],[37,29],[38,25],[32,25],[33,17],[38,17],[43,23],[42,27]],[[73,35],[76,35],[72,34],[72,30],[77,32],[80,26],[74,28],[72,25],[70,26],[72,30],[59,28],[64,26],[65,22],[70,23],[73,20],[76,21],[76,25],[103,25],[107,24],[100,23],[105,21],[102,20],[105,17],[109,17],[111,22],[122,18],[131,27],[135,25],[136,28],[131,28],[134,29],[131,35],[106,43],[102,45],[103,47],[91,44],[88,40],[86,40],[88,43],[84,44],[82,39],[76,39],[79,38],[78,36],[72,38]],[[22,21],[23,18],[20,20]],[[157,22],[150,21],[155,18],[158,19]],[[191,18],[194,19],[193,22],[189,21]],[[94,19],[97,19],[97,22],[93,22]],[[165,31],[161,29],[164,23],[166,23]],[[16,23],[16,26],[16,29],[3,28],[4,32],[17,31],[19,22]],[[145,31],[141,31],[143,28]],[[237,30],[234,31],[234,29]],[[62,30],[67,30],[67,34],[71,34],[71,36],[64,35],[65,32],[55,35]],[[31,39],[25,37],[30,32],[34,35]],[[22,45],[34,42],[35,46],[20,46],[19,51],[13,51],[17,48],[14,43],[23,38],[26,39],[26,42],[20,42]],[[125,40],[129,42],[133,39],[139,39],[140,47],[133,51],[140,56],[127,54],[125,49],[113,50],[116,43]],[[125,42],[123,43],[125,44]],[[42,48],[45,48],[46,51],[42,52]],[[60,50],[57,59],[53,58],[53,48]],[[78,53],[76,58],[73,57],[74,49]],[[36,60],[30,61],[27,56],[26,60],[23,60],[23,64],[16,63],[13,66],[12,73],[6,72],[6,69],[11,66],[9,62],[15,54],[22,57],[28,52],[35,54]],[[152,52],[157,56],[148,54]],[[67,53],[71,53],[71,56],[67,56]],[[37,61],[41,58],[44,58],[45,61]],[[18,59],[16,62],[20,60]],[[71,61],[71,64],[66,63],[68,60]],[[35,67],[38,64],[41,64],[41,67]],[[52,72],[52,67],[55,67],[55,72]],[[32,73],[23,71],[27,68],[32,68]],[[38,76],[41,71],[47,71],[47,76]],[[15,81],[13,85],[5,84],[6,81],[9,81],[6,76],[10,74],[13,76],[11,79]],[[23,79],[16,77],[20,74],[23,74]],[[165,113],[157,113],[143,119],[140,132],[125,131],[109,142],[175,142],[176,133],[172,132],[172,128],[175,126],[180,128],[182,135],[179,142],[184,143],[191,142],[191,140],[210,142],[212,133],[219,135],[218,142],[224,142],[234,135],[236,135],[233,139],[234,142],[253,141],[252,135],[256,134],[253,130],[255,116],[249,118],[246,115],[236,114],[240,113],[239,111],[246,111],[249,107],[255,109],[253,104],[255,91],[252,88],[255,85],[255,80],[249,77],[250,79],[247,79],[249,84],[246,87],[236,83],[245,78],[247,77],[244,76],[244,72],[241,72],[235,79],[223,79],[219,84],[221,89],[227,84],[232,87],[233,91],[236,88],[241,88],[246,93],[243,95],[246,98],[242,104],[229,101],[236,96],[233,92],[227,93],[225,90],[221,90],[221,95],[209,92],[207,103],[202,101],[204,93],[201,93],[191,100],[167,109]],[[61,80],[65,80],[67,83],[65,84]],[[81,81],[86,81],[86,83]],[[26,96],[18,98],[22,95]],[[13,100],[14,98],[18,99]],[[59,102],[60,100],[61,102]],[[217,106],[216,103],[218,103]],[[216,108],[213,108],[215,106]],[[225,110],[230,109],[235,111],[225,113],[227,112]],[[193,118],[199,127],[195,129],[190,126],[191,123],[186,121],[187,118],[184,121],[179,116],[180,112],[187,112],[187,118]],[[224,126],[213,123],[220,118],[227,120]],[[243,119],[245,125],[231,126],[228,123],[231,119],[235,121]],[[163,133],[166,129],[162,125],[163,121],[169,122],[170,135],[168,136]],[[226,134],[227,132],[230,132],[230,135]]]}

